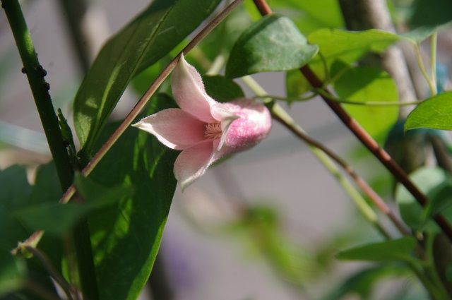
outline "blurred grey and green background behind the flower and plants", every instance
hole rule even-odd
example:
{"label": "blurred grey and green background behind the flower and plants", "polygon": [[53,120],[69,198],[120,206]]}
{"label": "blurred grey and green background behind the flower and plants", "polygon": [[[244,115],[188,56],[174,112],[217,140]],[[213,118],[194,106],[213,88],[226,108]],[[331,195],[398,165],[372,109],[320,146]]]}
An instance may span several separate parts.
{"label": "blurred grey and green background behind the flower and plants", "polygon": [[[71,122],[71,102],[90,62],[105,40],[150,1],[20,2],[47,70],[54,107],[61,108]],[[305,35],[325,27],[356,30],[368,26],[357,22],[358,28],[352,28],[345,22],[340,5],[352,5],[347,1],[318,2],[269,4],[292,18]],[[415,2],[388,1],[388,16],[398,30],[406,30]],[[252,1],[246,0],[230,23],[240,32],[255,16]],[[441,29],[438,60],[444,87],[449,84],[451,46],[452,30]],[[196,56],[188,60],[196,64]],[[30,167],[32,178],[34,167],[51,157],[21,67],[1,13],[0,168],[24,164]],[[253,77],[268,94],[286,95],[285,73]],[[422,80],[417,93],[427,96]],[[124,117],[140,96],[133,85],[126,90],[114,118]],[[391,199],[391,176],[323,102],[314,99],[284,106],[311,136],[345,157],[382,196]],[[259,145],[210,168],[184,193],[177,188],[155,270],[141,299],[425,299],[415,278],[397,266],[374,270],[371,264],[334,258],[341,249],[379,240],[379,233],[357,213],[338,181],[309,148],[273,123],[270,136]]]}

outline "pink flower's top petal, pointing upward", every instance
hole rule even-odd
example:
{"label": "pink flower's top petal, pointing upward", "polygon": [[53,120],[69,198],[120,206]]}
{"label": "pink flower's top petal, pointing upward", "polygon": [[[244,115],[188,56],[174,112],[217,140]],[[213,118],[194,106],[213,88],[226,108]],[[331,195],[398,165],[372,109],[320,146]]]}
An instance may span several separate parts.
{"label": "pink flower's top petal, pointing upward", "polygon": [[216,121],[210,114],[210,106],[218,102],[207,95],[201,75],[186,62],[184,55],[172,73],[171,88],[174,100],[185,112],[206,123]]}

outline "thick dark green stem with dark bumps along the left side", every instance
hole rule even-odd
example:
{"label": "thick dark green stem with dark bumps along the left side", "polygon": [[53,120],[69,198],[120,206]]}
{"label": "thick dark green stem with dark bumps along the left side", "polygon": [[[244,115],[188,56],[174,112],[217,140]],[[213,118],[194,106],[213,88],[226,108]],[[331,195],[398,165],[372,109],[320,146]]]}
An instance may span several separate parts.
{"label": "thick dark green stem with dark bumps along the left side", "polygon": [[[1,0],[1,4],[6,12],[14,40],[16,40],[18,52],[23,62],[23,72],[27,74],[28,83],[35,98],[42,127],[44,128],[50,152],[52,152],[55,167],[57,168],[61,188],[65,191],[72,184],[73,169],[68,152],[66,151],[66,145],[61,136],[57,114],[55,114],[52,99],[49,95],[49,84],[44,80],[46,72],[37,59],[35,47],[30,32],[28,32],[20,4],[17,0]],[[85,232],[78,232],[80,229]],[[85,223],[85,220],[81,220],[78,229],[76,229],[75,236],[84,237],[83,239],[76,239],[82,292],[90,300],[96,300],[98,298],[97,282],[93,256],[91,254],[90,234],[88,232],[88,224]]]}

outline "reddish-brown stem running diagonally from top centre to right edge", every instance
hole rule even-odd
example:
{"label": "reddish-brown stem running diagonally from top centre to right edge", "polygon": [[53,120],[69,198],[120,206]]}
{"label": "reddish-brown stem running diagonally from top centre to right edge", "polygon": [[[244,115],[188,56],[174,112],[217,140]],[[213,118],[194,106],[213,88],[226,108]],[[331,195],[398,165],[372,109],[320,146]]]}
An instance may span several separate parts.
{"label": "reddish-brown stem running diagonally from top centre to right edge", "polygon": [[[270,7],[266,3],[266,0],[254,0],[254,4],[258,8],[258,11],[261,15],[265,16],[272,13]],[[328,89],[323,87],[323,82],[316,76],[316,74],[309,68],[309,66],[303,66],[300,68],[300,71],[304,75],[305,78],[309,81],[309,83],[314,88],[321,88],[325,90],[325,92],[331,95],[331,92]],[[353,134],[361,141],[363,145],[366,146],[369,151],[374,154],[374,156],[388,169],[389,172],[396,177],[396,179],[407,188],[407,190],[412,194],[413,197],[417,200],[420,205],[427,205],[427,197],[420,191],[415,184],[412,183],[408,175],[403,171],[402,168],[398,166],[398,164],[392,159],[391,155],[388,154],[385,150],[379,147],[378,143],[369,136],[369,133],[362,128],[355,119],[353,119],[343,107],[340,106],[337,102],[329,99],[326,95],[321,95],[323,100],[328,104],[328,106],[333,110],[333,112],[339,117],[340,121],[347,126],[347,128],[352,131]],[[434,216],[434,220],[436,224],[443,230],[444,234],[448,236],[448,238],[452,241],[452,228],[450,224],[442,217],[441,215]]]}

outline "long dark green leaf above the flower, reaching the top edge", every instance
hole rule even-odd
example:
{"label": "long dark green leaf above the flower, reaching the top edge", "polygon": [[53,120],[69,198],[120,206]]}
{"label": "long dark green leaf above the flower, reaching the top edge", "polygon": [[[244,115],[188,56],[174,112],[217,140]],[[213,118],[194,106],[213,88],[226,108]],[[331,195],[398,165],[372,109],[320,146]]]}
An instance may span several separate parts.
{"label": "long dark green leaf above the flower, reaching the top edge", "polygon": [[114,35],[86,74],[74,104],[74,125],[90,154],[131,78],[184,40],[220,0],[156,0]]}

